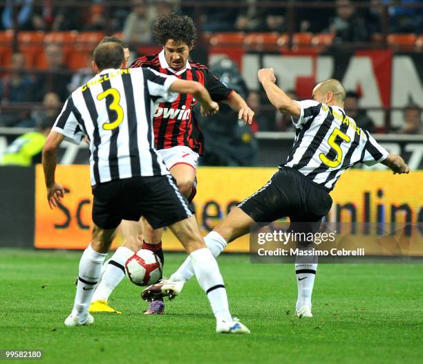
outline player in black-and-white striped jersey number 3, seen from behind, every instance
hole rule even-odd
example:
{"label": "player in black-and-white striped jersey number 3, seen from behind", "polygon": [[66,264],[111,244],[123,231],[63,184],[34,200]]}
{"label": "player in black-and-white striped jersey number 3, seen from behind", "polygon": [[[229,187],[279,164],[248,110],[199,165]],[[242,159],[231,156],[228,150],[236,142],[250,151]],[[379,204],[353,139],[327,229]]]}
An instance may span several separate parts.
{"label": "player in black-and-white striped jersey number 3, seen from behind", "polygon": [[216,260],[153,145],[154,102],[173,102],[178,93],[193,93],[206,115],[216,113],[218,104],[198,82],[151,69],[124,69],[124,51],[118,43],[100,44],[93,59],[97,75],[66,100],[43,149],[47,199],[54,208],[64,197],[63,186],[55,181],[60,143],[64,138],[74,143],[84,136],[90,140],[93,237],[79,262],[75,303],[65,325],[94,322],[88,307],[116,230],[122,219],[138,221],[144,216],[153,228],[169,226],[189,253],[216,317],[216,331],[249,333],[231,317]]}

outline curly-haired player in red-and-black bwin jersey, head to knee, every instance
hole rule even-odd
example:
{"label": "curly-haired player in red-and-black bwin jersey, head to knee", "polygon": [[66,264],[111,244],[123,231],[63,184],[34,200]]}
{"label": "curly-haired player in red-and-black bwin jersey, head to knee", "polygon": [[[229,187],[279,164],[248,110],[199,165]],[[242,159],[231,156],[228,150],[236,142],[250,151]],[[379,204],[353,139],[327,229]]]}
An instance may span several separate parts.
{"label": "curly-haired player in red-and-black bwin jersey, head to knee", "polygon": [[[162,51],[138,58],[131,67],[148,67],[182,80],[198,81],[204,84],[212,100],[225,102],[239,112],[245,123],[252,122],[254,112],[241,95],[220,82],[207,66],[189,62],[189,53],[196,41],[196,28],[190,17],[178,13],[159,17],[153,24],[153,34],[163,47]],[[171,160],[168,168],[176,168],[172,174],[181,192],[189,199],[195,194],[196,159],[204,152],[203,134],[192,111],[195,104],[193,95],[183,95],[175,102],[160,102],[154,114],[156,149],[162,151],[165,160]],[[185,152],[180,152],[182,150]],[[188,162],[182,157],[186,153],[190,154]]]}

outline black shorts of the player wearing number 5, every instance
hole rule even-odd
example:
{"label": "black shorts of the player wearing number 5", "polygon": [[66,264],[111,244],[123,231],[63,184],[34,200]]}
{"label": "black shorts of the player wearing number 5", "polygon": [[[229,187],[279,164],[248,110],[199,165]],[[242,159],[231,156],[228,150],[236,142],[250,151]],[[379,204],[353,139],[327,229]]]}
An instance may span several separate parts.
{"label": "black shorts of the player wearing number 5", "polygon": [[256,223],[289,217],[291,224],[315,223],[310,230],[320,226],[331,206],[332,197],[326,188],[289,167],[281,168],[260,190],[238,204]]}

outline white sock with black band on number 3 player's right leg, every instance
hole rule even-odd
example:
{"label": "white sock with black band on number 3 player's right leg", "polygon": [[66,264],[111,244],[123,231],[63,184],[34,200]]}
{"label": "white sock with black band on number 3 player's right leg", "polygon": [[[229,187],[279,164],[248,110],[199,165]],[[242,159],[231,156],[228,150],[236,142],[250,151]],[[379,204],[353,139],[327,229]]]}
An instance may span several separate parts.
{"label": "white sock with black band on number 3 player's right leg", "polygon": [[232,321],[225,285],[219,267],[208,248],[198,249],[189,255],[201,288],[207,294],[217,321]]}

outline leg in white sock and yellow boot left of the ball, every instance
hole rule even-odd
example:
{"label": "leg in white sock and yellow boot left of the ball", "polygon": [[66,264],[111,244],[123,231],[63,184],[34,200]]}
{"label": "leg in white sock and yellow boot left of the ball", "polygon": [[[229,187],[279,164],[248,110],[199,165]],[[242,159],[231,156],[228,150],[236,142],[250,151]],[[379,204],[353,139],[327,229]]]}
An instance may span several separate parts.
{"label": "leg in white sock and yellow boot left of the ball", "polygon": [[116,249],[111,259],[104,264],[104,273],[100,284],[95,289],[90,304],[90,312],[121,313],[109,306],[109,296],[125,277],[125,262],[138,251],[142,244],[143,228],[142,221],[122,220],[120,230],[124,238],[124,244]]}

